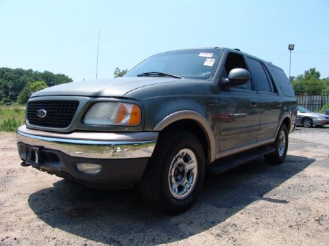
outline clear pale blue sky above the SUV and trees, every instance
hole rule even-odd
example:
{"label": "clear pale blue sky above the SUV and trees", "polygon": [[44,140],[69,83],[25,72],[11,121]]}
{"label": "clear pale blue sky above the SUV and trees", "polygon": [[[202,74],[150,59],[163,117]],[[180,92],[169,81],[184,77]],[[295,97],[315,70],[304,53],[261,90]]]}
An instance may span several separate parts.
{"label": "clear pale blue sky above the SUV and trees", "polygon": [[241,49],[291,76],[329,77],[329,0],[0,0],[0,67],[113,77],[176,49]]}

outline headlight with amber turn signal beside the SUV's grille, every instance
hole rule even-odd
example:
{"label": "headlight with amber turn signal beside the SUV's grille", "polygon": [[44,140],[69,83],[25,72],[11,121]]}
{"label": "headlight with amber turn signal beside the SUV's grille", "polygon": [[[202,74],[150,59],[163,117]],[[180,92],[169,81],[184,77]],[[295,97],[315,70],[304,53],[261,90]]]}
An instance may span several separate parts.
{"label": "headlight with amber turn signal beside the SUV's grille", "polygon": [[141,122],[138,105],[123,102],[96,102],[84,115],[84,124],[137,126]]}

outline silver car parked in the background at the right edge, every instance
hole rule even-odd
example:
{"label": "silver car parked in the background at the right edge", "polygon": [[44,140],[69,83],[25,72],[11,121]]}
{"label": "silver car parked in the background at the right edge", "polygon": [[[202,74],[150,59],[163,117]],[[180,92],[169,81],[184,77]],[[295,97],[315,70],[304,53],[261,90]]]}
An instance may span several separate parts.
{"label": "silver car parked in the background at the right edge", "polygon": [[312,127],[312,126],[324,126],[329,124],[329,115],[323,113],[315,113],[311,112],[304,107],[297,107],[297,118],[296,123],[300,124],[304,127]]}

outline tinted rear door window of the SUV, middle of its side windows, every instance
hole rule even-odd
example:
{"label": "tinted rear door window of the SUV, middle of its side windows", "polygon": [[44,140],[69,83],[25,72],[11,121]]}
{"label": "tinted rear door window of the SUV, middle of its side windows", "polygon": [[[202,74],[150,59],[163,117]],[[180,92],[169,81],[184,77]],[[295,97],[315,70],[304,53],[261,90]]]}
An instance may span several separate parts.
{"label": "tinted rear door window of the SUV, middle of its side windows", "polygon": [[259,92],[273,92],[269,78],[260,61],[247,57],[247,64],[249,64],[249,70],[252,72],[252,79],[257,85],[257,90]]}

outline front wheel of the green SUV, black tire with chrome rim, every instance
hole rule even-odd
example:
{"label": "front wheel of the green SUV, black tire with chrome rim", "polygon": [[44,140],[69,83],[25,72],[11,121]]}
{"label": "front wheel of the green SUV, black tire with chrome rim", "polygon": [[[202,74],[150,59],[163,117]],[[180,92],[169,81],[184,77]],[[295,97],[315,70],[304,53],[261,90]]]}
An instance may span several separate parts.
{"label": "front wheel of the green SUV, black tire with chrome rim", "polygon": [[143,201],[162,213],[182,213],[202,188],[205,157],[202,144],[185,131],[162,133],[138,189]]}

